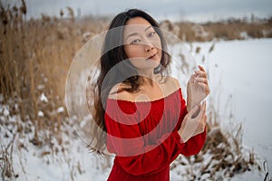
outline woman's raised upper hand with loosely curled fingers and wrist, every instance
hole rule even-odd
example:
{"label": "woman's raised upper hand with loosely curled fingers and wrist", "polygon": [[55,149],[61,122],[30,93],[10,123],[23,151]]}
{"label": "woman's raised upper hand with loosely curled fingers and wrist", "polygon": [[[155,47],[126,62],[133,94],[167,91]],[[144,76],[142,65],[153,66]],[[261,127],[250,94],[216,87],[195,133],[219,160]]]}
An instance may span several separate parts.
{"label": "woman's raised upper hand with loosely curled fingers and wrist", "polygon": [[199,65],[199,71],[195,71],[187,84],[187,110],[198,105],[209,95],[209,82],[207,72]]}

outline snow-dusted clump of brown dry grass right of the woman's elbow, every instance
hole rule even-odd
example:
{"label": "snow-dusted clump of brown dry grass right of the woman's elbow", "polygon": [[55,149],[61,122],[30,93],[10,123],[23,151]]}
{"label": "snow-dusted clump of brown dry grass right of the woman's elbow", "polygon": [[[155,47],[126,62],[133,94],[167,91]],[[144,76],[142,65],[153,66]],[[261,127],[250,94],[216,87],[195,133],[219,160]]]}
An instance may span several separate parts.
{"label": "snow-dusted clump of brown dry grass right of the woman's elbow", "polygon": [[170,168],[184,166],[189,180],[222,180],[252,169],[260,171],[255,153],[242,147],[242,126],[222,130],[214,110],[209,110],[208,118],[204,148],[193,157],[178,157]]}

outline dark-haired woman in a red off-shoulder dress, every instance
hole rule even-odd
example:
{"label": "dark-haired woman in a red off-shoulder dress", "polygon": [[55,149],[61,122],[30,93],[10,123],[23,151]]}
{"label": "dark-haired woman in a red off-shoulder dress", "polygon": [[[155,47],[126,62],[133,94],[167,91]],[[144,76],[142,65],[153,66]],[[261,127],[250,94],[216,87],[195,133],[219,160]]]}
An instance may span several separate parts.
{"label": "dark-haired woman in a red off-shoulder dress", "polygon": [[169,63],[149,14],[131,9],[113,18],[96,83],[92,140],[94,150],[106,146],[116,154],[109,181],[170,180],[170,163],[203,147],[207,74],[199,66],[191,75],[186,106],[179,81],[167,76]]}

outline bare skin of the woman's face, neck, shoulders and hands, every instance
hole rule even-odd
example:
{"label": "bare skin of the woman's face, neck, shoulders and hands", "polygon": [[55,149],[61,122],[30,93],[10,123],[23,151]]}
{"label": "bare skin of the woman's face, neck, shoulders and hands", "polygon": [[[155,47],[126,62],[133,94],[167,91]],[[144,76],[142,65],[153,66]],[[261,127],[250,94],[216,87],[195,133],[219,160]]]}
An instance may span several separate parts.
{"label": "bare skin of the woman's face, neck, shoulders and hands", "polygon": [[[130,101],[160,100],[178,90],[179,81],[171,77],[161,81],[160,75],[154,73],[154,68],[160,64],[162,52],[160,36],[151,24],[144,18],[134,17],[128,20],[126,25],[128,26],[124,28],[123,33],[124,51],[141,75],[143,83],[136,92],[118,91],[127,88],[128,85],[117,84],[112,88],[109,98]],[[202,133],[206,127],[206,102],[202,104],[200,102],[209,94],[209,83],[207,73],[202,66],[190,76],[187,92],[188,114],[178,131],[182,142]]]}

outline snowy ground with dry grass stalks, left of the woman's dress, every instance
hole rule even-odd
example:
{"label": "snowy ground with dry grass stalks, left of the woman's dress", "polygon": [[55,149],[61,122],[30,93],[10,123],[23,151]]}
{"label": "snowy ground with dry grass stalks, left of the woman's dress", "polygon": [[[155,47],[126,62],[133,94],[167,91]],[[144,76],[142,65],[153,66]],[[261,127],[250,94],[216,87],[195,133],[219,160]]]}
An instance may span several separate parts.
{"label": "snowy ground with dry grass stalks, left of the woman's dress", "polygon": [[[5,163],[0,160],[1,166],[12,162],[11,172],[14,172],[14,176],[10,180],[106,180],[112,159],[91,153],[74,132],[73,125],[63,124],[60,138],[54,138],[52,132],[43,130],[39,138],[49,137],[50,140],[36,143],[33,141],[32,121],[18,121],[24,128],[23,132],[18,132],[13,121],[6,121],[13,119],[17,121],[19,117],[1,117],[0,127],[0,150],[7,150],[9,154],[13,152]],[[10,143],[12,149],[8,147]],[[7,177],[5,179],[8,180]]]}

